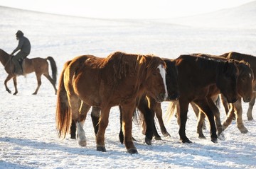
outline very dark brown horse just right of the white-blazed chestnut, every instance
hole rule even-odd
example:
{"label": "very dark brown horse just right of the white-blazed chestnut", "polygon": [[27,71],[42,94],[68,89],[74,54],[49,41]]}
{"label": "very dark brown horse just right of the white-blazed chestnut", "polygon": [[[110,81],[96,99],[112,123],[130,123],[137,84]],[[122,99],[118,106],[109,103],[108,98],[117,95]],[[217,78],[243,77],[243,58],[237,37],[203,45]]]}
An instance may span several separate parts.
{"label": "very dark brown horse just right of the white-blazed chestnut", "polygon": [[[217,142],[216,127],[213,112],[210,109],[212,100],[207,98],[209,88],[216,85],[225,95],[229,103],[238,100],[237,78],[238,69],[233,61],[223,61],[192,55],[181,55],[176,59],[178,68],[178,86],[180,98],[178,99],[177,113],[179,120],[179,135],[183,143],[191,143],[187,138],[185,127],[188,113],[188,105],[193,102],[206,113],[210,122],[211,141]],[[170,116],[174,113],[177,102],[170,103]]]}

